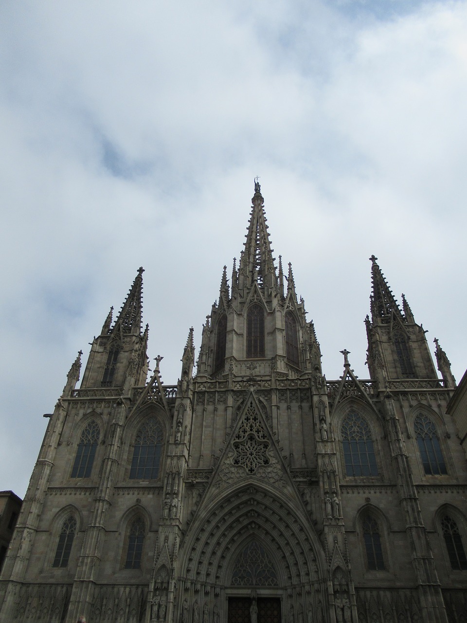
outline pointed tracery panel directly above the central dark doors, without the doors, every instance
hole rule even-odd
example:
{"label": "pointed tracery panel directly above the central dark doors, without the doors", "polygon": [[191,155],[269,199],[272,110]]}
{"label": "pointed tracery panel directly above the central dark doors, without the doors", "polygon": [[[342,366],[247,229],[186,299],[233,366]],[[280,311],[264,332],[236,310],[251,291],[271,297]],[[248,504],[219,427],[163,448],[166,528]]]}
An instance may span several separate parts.
{"label": "pointed tracery panel directly above the central dark doors, without the doors", "polygon": [[276,571],[265,549],[250,541],[238,554],[232,573],[233,586],[277,586]]}

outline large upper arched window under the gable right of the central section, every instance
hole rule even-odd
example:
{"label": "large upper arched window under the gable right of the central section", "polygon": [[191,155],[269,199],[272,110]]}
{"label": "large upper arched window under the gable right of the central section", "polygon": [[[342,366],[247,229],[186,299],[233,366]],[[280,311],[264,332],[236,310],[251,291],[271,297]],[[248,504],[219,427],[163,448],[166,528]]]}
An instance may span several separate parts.
{"label": "large upper arched window under the gable right of the central section", "polygon": [[341,430],[347,476],[377,476],[378,468],[367,421],[351,411],[344,418]]}

